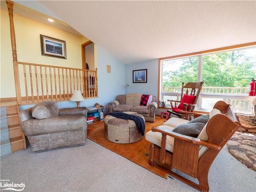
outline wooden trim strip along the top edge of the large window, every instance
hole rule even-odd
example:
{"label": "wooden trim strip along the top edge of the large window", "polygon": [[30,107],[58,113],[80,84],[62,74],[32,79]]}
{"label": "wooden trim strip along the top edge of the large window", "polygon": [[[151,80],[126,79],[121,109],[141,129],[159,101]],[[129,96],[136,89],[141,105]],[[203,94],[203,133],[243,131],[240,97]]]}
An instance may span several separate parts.
{"label": "wooden trim strip along the top edge of the large window", "polygon": [[222,48],[217,48],[217,49],[209,49],[209,50],[205,50],[205,51],[198,51],[198,52],[194,52],[194,53],[162,57],[159,59],[166,60],[166,59],[174,59],[174,58],[180,58],[180,57],[196,56],[196,55],[203,55],[203,54],[207,54],[207,53],[216,53],[216,52],[221,52],[221,51],[227,51],[227,50],[233,50],[233,49],[239,49],[239,48],[245,48],[245,47],[252,47],[252,46],[256,46],[256,41],[248,42],[246,44],[227,46],[227,47],[222,47]]}

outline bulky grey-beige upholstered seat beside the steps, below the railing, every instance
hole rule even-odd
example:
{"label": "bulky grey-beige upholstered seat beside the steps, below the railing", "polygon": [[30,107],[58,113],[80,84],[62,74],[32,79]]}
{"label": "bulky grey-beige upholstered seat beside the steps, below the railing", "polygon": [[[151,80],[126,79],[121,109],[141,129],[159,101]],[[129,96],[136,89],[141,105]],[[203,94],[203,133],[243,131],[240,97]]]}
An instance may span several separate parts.
{"label": "bulky grey-beige upholstered seat beside the steps, below the railing", "polygon": [[[86,143],[86,108],[57,109],[57,103],[53,101],[39,104],[41,105],[38,110],[33,107],[20,111],[21,129],[33,152]],[[46,106],[51,109],[48,110]]]}

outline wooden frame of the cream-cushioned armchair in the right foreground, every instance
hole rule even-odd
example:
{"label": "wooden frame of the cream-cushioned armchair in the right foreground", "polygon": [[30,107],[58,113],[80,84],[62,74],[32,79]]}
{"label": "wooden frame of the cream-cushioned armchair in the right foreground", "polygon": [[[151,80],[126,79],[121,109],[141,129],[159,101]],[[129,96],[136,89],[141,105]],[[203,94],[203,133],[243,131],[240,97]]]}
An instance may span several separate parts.
{"label": "wooden frame of the cream-cushioned armchair in the right foreground", "polygon": [[[161,142],[158,143],[159,146],[151,143],[148,164],[158,166],[170,175],[201,191],[208,191],[209,168],[222,147],[240,127],[230,105],[224,101],[218,101],[214,109],[220,110],[222,114],[212,116],[206,124],[205,131],[208,139],[205,140],[172,132],[165,125],[154,127],[152,133],[161,133]],[[168,141],[170,138],[174,139],[173,150],[169,150]],[[197,178],[199,184],[174,173],[173,168]]]}

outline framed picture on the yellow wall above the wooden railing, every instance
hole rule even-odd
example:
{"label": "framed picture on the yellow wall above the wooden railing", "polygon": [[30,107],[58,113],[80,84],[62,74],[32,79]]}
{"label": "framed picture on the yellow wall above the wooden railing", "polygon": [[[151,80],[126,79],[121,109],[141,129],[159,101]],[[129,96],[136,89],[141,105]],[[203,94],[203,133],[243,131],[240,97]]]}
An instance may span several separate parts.
{"label": "framed picture on the yellow wall above the wooden railing", "polygon": [[67,59],[66,41],[40,35],[41,54],[50,57]]}

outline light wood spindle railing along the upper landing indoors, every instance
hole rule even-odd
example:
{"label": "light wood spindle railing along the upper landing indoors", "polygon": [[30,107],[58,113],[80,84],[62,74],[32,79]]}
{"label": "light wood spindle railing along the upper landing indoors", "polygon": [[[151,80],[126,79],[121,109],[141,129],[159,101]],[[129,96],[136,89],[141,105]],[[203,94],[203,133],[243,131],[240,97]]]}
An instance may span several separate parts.
{"label": "light wood spindle railing along the upper landing indoors", "polygon": [[20,94],[16,94],[18,104],[69,100],[74,90],[80,90],[84,98],[98,97],[97,68],[84,70],[27,62],[16,65],[14,75],[18,82],[15,81],[15,87],[20,90]]}

